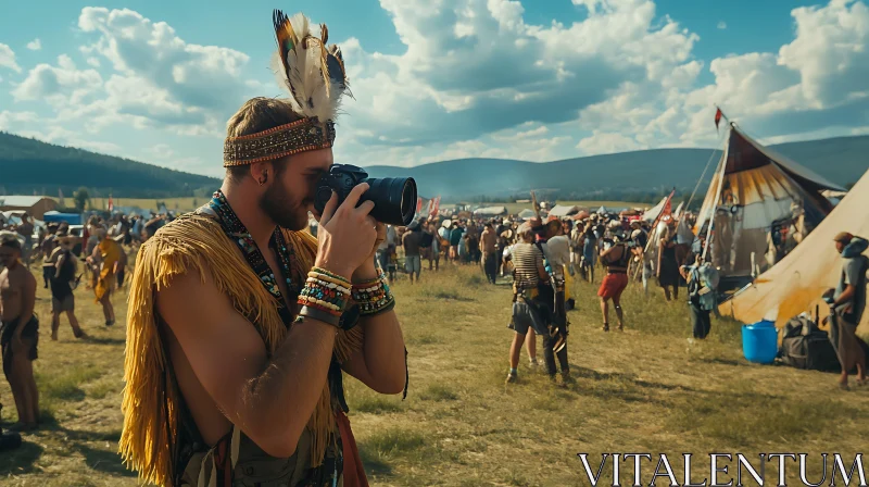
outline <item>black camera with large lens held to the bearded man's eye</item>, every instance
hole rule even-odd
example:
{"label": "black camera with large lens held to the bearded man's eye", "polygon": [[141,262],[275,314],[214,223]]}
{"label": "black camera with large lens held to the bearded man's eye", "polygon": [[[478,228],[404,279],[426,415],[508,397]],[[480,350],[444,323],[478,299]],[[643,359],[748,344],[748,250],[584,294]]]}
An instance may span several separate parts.
{"label": "black camera with large lens held to the bearded man's eye", "polygon": [[373,218],[396,226],[407,226],[413,222],[416,214],[416,182],[413,177],[369,178],[365,170],[350,164],[333,164],[320,177],[314,193],[314,208],[323,213],[332,191],[338,193],[338,204],[341,204],[362,183],[368,183],[369,188],[360,198],[360,204],[374,201]]}

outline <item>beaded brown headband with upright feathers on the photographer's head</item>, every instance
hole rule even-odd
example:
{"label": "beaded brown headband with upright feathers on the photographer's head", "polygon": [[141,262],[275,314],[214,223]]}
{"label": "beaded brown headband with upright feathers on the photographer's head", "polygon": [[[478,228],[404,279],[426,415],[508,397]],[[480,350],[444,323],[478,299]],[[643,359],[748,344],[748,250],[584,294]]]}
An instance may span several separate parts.
{"label": "beaded brown headband with upright feathers on the photographer's head", "polygon": [[325,24],[312,25],[302,14],[289,17],[276,10],[272,21],[278,45],[272,67],[278,85],[290,95],[287,102],[301,120],[256,134],[227,137],[225,167],[328,149],[335,142],[335,118],[341,97],[349,92],[341,50],[328,46]]}

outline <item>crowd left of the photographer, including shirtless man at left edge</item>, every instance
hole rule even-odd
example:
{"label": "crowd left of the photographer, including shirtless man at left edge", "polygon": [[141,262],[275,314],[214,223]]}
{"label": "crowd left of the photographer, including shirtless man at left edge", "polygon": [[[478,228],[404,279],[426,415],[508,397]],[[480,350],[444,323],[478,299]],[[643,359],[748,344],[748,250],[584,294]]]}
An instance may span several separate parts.
{"label": "crowd left of the photographer, including shirtless man at left edge", "polygon": [[[74,290],[83,278],[102,308],[105,326],[114,325],[112,294],[125,286],[128,252],[148,238],[148,225],[140,225],[142,230],[137,234],[137,222],[142,221],[121,214],[93,215],[76,235],[68,223],[38,227],[25,213],[20,222],[0,229],[0,347],[18,416],[10,432],[32,430],[39,424],[39,392],[33,373],[33,361],[39,355],[40,323],[34,310],[37,286],[51,295],[51,340],[58,340],[63,316],[75,338],[88,337],[75,312]],[[39,278],[33,267],[41,270]]]}

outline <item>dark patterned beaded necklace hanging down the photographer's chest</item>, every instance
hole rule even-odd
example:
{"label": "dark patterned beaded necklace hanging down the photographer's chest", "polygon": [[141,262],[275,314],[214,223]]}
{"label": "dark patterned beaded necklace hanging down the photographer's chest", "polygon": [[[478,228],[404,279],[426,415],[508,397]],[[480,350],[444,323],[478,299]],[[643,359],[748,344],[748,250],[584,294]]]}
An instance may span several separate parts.
{"label": "dark patterned beaded necklace hanging down the photographer's chest", "polygon": [[[218,189],[214,192],[211,202],[209,202],[209,207],[217,213],[224,233],[238,246],[239,250],[241,250],[248,264],[260,277],[260,282],[263,283],[266,290],[278,300],[278,314],[280,314],[284,324],[289,326],[290,323],[292,323],[293,314],[292,310],[289,310],[286,301],[284,301],[277,277],[272,271],[272,267],[268,266],[268,262],[266,262],[263,257],[263,252],[256,247],[256,242],[253,240],[250,232],[248,232],[248,228],[244,227],[244,224],[238,218],[236,212],[232,211],[223,191]],[[298,294],[299,289],[295,289],[292,279],[292,264],[295,255],[293,249],[287,246],[287,241],[284,239],[284,235],[280,233],[279,228],[275,228],[275,233],[272,234],[268,246],[278,250],[278,261],[280,262],[280,271],[287,282],[287,289],[291,295]],[[295,280],[301,283],[303,279],[298,278]]]}

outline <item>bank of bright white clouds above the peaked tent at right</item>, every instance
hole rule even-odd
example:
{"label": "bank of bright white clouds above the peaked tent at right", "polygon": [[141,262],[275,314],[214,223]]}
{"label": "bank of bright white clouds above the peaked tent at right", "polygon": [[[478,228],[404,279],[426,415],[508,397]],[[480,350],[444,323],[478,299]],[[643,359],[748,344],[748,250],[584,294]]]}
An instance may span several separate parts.
{"label": "bank of bright white clouds above the peaked tent at right", "polygon": [[[697,66],[680,83],[624,84],[582,111],[580,127],[597,128],[585,150],[604,150],[612,134],[642,147],[715,145],[714,104],[764,141],[846,135],[869,127],[869,9],[832,0],[792,12],[794,40],[776,52],[748,52],[709,63],[714,83],[696,85]],[[680,76],[681,77],[681,76]],[[630,147],[630,142],[619,147]],[[618,146],[618,145],[616,145]]]}

